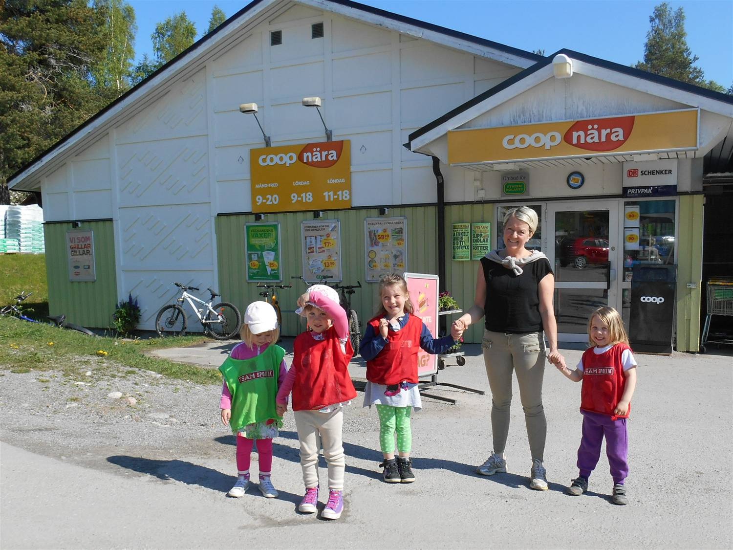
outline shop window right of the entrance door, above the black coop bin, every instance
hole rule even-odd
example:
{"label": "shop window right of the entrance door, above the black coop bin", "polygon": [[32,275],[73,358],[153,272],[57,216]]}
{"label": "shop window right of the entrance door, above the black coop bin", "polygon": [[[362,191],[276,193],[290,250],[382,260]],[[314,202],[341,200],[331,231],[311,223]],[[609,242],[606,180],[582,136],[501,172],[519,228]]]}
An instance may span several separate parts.
{"label": "shop window right of the entrance door, above the black coop bin", "polygon": [[624,280],[638,263],[674,264],[674,200],[624,203]]}

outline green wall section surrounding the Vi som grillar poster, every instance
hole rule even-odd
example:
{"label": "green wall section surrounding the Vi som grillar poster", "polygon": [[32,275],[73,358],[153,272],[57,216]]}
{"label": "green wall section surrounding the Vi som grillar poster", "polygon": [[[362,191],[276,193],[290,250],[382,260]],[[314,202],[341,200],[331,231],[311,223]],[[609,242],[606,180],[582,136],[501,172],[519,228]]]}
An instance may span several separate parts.
{"label": "green wall section surrounding the Vi som grillar poster", "polygon": [[66,254],[69,222],[44,224],[48,309],[66,315],[71,323],[94,328],[111,326],[117,304],[114,231],[111,221],[84,221],[81,229],[94,232],[95,282],[71,282]]}

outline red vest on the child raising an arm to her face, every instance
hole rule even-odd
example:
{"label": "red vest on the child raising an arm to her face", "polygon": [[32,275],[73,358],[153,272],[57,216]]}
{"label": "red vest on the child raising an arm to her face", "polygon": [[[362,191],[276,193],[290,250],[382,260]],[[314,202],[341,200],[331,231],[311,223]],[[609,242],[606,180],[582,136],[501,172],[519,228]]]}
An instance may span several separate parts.
{"label": "red vest on the child raising an arm to her face", "polygon": [[356,397],[348,370],[354,355],[350,340],[344,354],[333,326],[323,335],[323,340],[315,340],[310,332],[302,332],[292,345],[293,411],[318,410]]}

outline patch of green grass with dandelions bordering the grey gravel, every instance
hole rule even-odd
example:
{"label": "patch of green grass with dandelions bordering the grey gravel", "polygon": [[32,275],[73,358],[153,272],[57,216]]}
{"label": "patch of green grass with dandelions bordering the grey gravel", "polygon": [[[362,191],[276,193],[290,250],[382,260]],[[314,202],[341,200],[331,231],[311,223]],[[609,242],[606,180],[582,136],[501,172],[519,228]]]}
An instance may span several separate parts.
{"label": "patch of green grass with dandelions bordering the grey gravel", "polygon": [[[220,384],[218,370],[147,356],[158,348],[183,348],[207,340],[202,336],[119,340],[89,337],[46,323],[0,317],[0,370],[11,373],[59,370],[65,375],[128,375],[130,369],[151,370],[196,384]],[[101,352],[106,352],[101,353]]]}

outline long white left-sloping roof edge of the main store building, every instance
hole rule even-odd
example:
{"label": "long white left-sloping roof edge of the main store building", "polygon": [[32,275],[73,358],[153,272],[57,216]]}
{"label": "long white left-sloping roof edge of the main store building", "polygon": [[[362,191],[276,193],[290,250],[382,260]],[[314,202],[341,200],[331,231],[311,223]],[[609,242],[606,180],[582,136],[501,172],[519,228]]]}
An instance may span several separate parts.
{"label": "long white left-sloping roof edge of the main store building", "polygon": [[[59,147],[49,151],[47,154],[43,155],[42,158],[34,162],[34,164],[28,166],[23,170],[23,172],[8,181],[8,186],[11,189],[22,188],[23,180],[34,175],[38,170],[43,169],[54,158],[57,158],[59,155],[63,155],[73,149],[73,147],[90,136],[90,134],[97,133],[100,129],[113,122],[122,113],[122,111],[127,110],[130,106],[141,103],[141,101],[144,101],[146,104],[149,103],[150,94],[156,87],[162,87],[163,84],[166,84],[166,82],[172,77],[179,76],[179,73],[184,72],[188,68],[189,64],[193,64],[196,59],[206,56],[207,53],[213,48],[216,48],[217,45],[231,38],[233,33],[240,32],[240,25],[247,21],[256,19],[259,15],[262,15],[263,12],[266,12],[270,7],[272,7],[273,4],[279,4],[281,1],[282,0],[265,0],[260,4],[257,4],[253,10],[244,13],[240,18],[237,18],[235,21],[232,21],[232,23],[229,23],[229,25],[224,29],[221,29],[221,31],[216,35],[210,37],[207,43],[202,45],[203,48],[196,48],[193,51],[188,52],[188,54],[183,56],[181,59],[178,59],[173,65],[167,67],[166,70],[163,70],[161,73],[156,75],[155,78],[147,81],[144,86],[139,87],[127,98],[117,103],[117,105],[112,107],[109,111],[106,111],[106,113],[102,114],[93,122],[90,122],[89,125],[85,126],[81,130],[73,133],[73,135],[67,139],[67,141],[59,145]],[[287,2],[283,4],[287,4]],[[255,24],[259,24],[259,21],[256,21]],[[199,68],[197,67],[195,70],[199,70]],[[159,97],[155,98],[155,100],[157,99],[159,99]],[[139,109],[135,109],[135,111],[138,110]]]}

